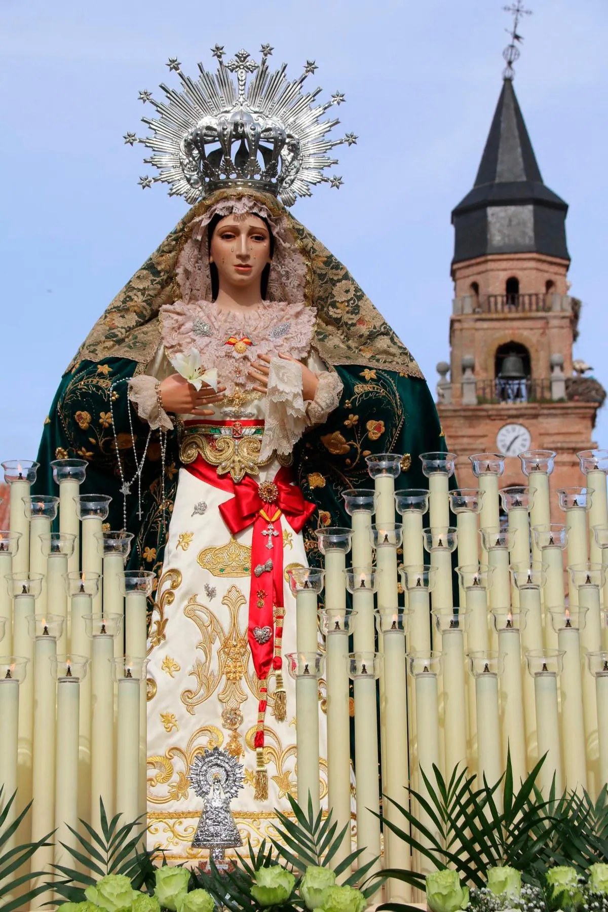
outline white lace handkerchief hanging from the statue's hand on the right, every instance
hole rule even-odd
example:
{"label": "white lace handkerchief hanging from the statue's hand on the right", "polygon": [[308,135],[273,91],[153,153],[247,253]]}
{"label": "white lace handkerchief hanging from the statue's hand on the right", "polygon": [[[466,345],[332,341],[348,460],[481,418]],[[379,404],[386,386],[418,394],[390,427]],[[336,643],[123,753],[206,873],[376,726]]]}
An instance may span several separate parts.
{"label": "white lace handkerchief hanging from the statue's hand on the right", "polygon": [[282,456],[291,453],[306,423],[301,365],[271,358],[260,457],[267,459],[273,451]]}

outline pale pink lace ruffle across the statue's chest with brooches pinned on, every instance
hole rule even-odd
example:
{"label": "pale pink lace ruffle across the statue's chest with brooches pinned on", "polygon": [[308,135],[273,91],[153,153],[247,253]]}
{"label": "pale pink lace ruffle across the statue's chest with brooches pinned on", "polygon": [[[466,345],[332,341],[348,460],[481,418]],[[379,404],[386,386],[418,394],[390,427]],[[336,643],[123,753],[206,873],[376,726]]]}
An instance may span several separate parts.
{"label": "pale pink lace ruffle across the statue's chest with brooches pinned on", "polygon": [[284,351],[298,360],[305,358],[316,316],[314,307],[304,303],[271,301],[241,313],[220,310],[209,301],[176,301],[163,306],[160,312],[167,357],[197,348],[204,367],[217,368],[227,396],[232,396],[236,388],[251,386],[247,371],[260,355],[273,356]]}

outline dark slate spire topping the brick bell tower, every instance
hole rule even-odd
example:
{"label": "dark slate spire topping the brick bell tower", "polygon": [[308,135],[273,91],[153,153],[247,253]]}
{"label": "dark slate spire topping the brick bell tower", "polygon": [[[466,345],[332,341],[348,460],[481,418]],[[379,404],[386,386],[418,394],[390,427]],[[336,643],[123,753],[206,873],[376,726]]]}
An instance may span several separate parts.
{"label": "dark slate spire topping the brick bell tower", "polygon": [[569,260],[567,211],[542,182],[513,82],[505,78],[475,185],[452,212],[453,262],[523,253]]}

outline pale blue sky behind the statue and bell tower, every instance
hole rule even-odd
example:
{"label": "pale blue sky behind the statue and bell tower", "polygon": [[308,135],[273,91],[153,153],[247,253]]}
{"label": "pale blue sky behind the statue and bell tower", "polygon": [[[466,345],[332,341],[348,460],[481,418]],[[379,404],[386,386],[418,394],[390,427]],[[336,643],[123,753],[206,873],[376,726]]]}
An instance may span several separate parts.
{"label": "pale blue sky behind the statue and bell tower", "polygon": [[[532,5],[515,88],[543,179],[571,206],[575,353],[608,387],[608,5]],[[508,25],[500,0],[3,0],[1,458],[35,458],[61,372],[184,212],[159,185],[141,191],[149,166],[122,135],[152,112],[139,89],[178,85],[168,57],[193,73],[216,42],[256,55],[270,42],[293,75],[315,59],[322,98],[345,92],[342,128],[360,138],[339,150],[345,184],[294,214],[350,267],[434,389],[448,357],[449,213],[477,171]],[[595,438],[608,446],[608,413]]]}

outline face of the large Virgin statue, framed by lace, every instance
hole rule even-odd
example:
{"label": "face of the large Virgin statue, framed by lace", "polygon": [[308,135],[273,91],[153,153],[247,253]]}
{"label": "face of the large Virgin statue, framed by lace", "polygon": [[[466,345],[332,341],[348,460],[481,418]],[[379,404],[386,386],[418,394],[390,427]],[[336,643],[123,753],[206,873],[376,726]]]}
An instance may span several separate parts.
{"label": "face of the large Virgin statue, framed by lace", "polygon": [[257,215],[236,219],[226,215],[211,237],[209,262],[214,263],[222,285],[248,288],[257,285],[270,263],[270,233]]}

